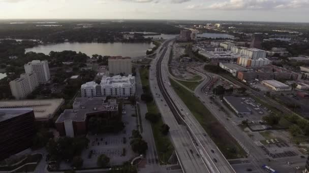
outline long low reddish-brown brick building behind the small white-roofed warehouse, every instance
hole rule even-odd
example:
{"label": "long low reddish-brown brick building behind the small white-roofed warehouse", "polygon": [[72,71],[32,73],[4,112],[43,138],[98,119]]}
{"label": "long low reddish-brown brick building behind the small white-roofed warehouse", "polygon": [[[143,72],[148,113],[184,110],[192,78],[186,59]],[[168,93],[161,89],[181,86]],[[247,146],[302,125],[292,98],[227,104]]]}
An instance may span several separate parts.
{"label": "long low reddish-brown brick building behind the small white-roofed warehouse", "polygon": [[237,74],[237,78],[243,81],[250,81],[254,79],[297,80],[301,79],[301,76],[302,74],[274,65],[258,67],[249,71],[239,71]]}

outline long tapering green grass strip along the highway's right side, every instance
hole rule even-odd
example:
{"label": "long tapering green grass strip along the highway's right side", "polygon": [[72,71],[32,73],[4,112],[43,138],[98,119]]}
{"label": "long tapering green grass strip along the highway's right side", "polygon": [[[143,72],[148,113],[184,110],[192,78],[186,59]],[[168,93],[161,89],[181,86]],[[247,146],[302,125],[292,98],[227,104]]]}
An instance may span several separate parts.
{"label": "long tapering green grass strip along the highway's right side", "polygon": [[227,159],[245,157],[245,151],[197,97],[173,80],[171,85]]}

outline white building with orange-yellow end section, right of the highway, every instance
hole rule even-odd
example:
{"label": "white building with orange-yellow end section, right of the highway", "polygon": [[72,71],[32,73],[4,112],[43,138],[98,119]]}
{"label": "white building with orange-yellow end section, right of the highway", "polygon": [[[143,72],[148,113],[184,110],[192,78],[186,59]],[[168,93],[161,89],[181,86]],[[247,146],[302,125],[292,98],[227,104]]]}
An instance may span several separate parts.
{"label": "white building with orange-yellow end section, right of the highway", "polygon": [[245,57],[238,57],[237,64],[243,67],[262,67],[271,64],[271,61],[267,58],[250,59]]}

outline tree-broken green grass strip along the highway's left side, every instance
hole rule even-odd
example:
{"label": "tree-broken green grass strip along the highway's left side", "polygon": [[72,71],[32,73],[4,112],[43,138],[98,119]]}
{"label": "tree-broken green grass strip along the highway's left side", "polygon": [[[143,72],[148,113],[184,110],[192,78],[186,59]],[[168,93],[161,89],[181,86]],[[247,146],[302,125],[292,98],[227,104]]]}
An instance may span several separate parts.
{"label": "tree-broken green grass strip along the highway's left side", "polygon": [[[143,86],[149,85],[149,80],[148,80],[149,70],[147,68],[140,68],[139,72],[140,72],[141,81],[142,81]],[[154,102],[147,103],[147,109],[148,109],[148,112],[150,113],[159,113],[157,105]],[[142,118],[145,118],[145,117],[142,117]],[[174,146],[168,136],[162,135],[160,131],[160,128],[162,125],[163,125],[162,118],[160,118],[160,120],[157,123],[151,123],[152,134],[153,134],[154,142],[156,143],[159,160],[161,164],[164,164],[168,162],[168,159],[172,155],[174,151]]]}

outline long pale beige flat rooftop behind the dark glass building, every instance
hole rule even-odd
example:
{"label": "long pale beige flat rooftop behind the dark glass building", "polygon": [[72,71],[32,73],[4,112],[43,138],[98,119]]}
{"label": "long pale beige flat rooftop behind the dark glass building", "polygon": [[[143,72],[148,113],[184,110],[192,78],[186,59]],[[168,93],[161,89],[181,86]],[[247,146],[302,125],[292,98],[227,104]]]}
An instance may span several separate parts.
{"label": "long pale beige flat rooftop behind the dark glass building", "polygon": [[36,119],[49,119],[64,103],[64,99],[0,101],[0,108],[30,108]]}

